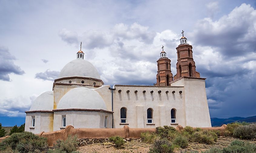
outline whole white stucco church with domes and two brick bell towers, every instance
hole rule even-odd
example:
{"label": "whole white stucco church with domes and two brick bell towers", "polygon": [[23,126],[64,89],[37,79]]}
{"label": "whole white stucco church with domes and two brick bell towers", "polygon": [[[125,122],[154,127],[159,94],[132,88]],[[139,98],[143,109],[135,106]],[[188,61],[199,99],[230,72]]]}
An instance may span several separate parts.
{"label": "whole white stucco church with domes and two brick bell towers", "polygon": [[[183,34],[183,32],[182,32]],[[164,46],[157,61],[156,84],[104,85],[97,69],[78,51],[54,80],[52,91],[39,95],[26,111],[25,131],[74,128],[211,127],[205,78],[195,70],[192,46],[184,36],[176,48],[177,73]]]}

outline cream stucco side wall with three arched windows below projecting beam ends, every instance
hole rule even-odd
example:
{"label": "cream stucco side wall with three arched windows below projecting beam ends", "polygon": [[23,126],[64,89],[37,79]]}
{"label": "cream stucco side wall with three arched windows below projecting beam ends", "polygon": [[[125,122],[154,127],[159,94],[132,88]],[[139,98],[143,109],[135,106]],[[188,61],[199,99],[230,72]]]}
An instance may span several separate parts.
{"label": "cream stucco side wall with three arched windows below projecting beam ends", "polygon": [[[185,100],[183,87],[157,87],[157,86],[118,86],[113,94],[114,101],[114,126],[113,128],[121,128],[120,109],[127,109],[128,126],[131,128],[153,128],[157,126],[174,126],[171,125],[171,109],[176,109],[176,123],[185,126]],[[121,90],[121,93],[118,93]],[[127,93],[126,91],[130,92]],[[135,93],[134,91],[138,92]],[[143,93],[142,91],[146,91]],[[159,94],[158,91],[161,90]],[[154,91],[152,94],[150,91]],[[165,91],[169,91],[165,93]],[[172,94],[172,91],[175,91]],[[153,123],[155,125],[147,125],[147,109],[153,110]]]}

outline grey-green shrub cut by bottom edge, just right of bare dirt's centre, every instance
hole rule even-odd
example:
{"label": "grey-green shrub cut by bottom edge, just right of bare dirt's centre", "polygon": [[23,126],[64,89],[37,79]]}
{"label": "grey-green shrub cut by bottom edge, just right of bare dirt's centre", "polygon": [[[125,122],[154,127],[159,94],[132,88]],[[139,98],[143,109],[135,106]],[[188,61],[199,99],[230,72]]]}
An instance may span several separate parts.
{"label": "grey-green shrub cut by bottom edge, just right of bare dirt's centre", "polygon": [[156,140],[149,153],[174,153],[175,146],[168,139]]}

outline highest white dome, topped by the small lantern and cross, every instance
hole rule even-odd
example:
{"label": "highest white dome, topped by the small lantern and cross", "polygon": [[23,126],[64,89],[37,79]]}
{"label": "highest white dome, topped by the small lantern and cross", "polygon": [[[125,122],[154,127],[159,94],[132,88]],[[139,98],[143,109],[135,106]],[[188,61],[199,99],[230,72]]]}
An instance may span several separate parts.
{"label": "highest white dome, topped by the small lantern and cross", "polygon": [[59,78],[64,77],[88,77],[100,79],[97,69],[87,60],[75,59],[66,64],[59,74]]}

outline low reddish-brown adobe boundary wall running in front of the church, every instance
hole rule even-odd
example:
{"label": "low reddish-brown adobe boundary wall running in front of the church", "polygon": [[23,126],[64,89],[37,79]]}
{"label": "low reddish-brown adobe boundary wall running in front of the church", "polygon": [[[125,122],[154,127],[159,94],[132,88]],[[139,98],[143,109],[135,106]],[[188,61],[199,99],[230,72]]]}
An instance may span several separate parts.
{"label": "low reddish-brown adobe boundary wall running in front of the church", "polygon": [[[201,128],[206,130],[219,130],[220,135],[224,135],[224,131],[227,125],[222,125],[221,127],[210,127],[210,128]],[[176,129],[181,131],[183,129],[182,126],[177,126]],[[195,129],[195,128],[194,128]],[[140,138],[142,132],[155,132],[155,128],[129,128],[128,126],[124,126],[123,128],[115,128],[115,129],[89,129],[89,128],[79,128],[75,129],[73,126],[69,125],[63,130],[53,131],[53,132],[41,132],[39,136],[47,138],[47,142],[49,146],[53,146],[54,143],[60,139],[67,139],[68,135],[77,135],[78,139],[80,138],[88,138],[88,139],[101,139],[101,138],[109,138],[111,136],[119,135],[122,138]],[[3,139],[8,138],[9,136],[0,138],[0,142]]]}

